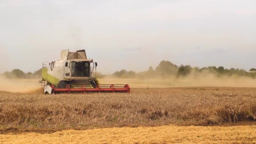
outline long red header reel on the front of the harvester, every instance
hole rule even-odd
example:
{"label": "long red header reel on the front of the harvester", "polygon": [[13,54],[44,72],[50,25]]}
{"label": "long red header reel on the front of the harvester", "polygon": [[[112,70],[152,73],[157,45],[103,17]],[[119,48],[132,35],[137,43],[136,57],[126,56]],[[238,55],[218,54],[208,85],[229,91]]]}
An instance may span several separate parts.
{"label": "long red header reel on the front of the harvester", "polygon": [[73,85],[66,85],[66,88],[56,88],[54,85],[51,85],[51,88],[53,88],[53,93],[55,92],[81,92],[81,93],[86,93],[86,92],[125,92],[125,93],[130,93],[130,86],[128,84],[120,85],[120,84],[100,84],[96,85],[96,88],[88,87],[86,85],[80,85],[80,88],[77,88],[76,86]]}

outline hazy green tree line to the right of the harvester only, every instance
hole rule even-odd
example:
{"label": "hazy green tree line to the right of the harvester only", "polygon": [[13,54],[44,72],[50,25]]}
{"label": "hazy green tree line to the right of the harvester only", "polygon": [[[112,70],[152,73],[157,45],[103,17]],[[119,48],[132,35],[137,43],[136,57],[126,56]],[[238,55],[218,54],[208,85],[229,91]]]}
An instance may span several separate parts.
{"label": "hazy green tree line to the right of the harvester only", "polygon": [[168,77],[168,76],[176,76],[176,77],[184,77],[191,73],[200,74],[203,72],[211,73],[216,76],[245,76],[245,77],[252,77],[256,78],[256,69],[252,68],[249,72],[245,69],[226,69],[222,66],[220,67],[191,67],[190,65],[183,65],[177,66],[170,61],[161,61],[160,64],[154,69],[153,67],[149,67],[149,69],[145,72],[134,72],[134,71],[126,71],[125,69],[114,72],[112,75],[115,77],[120,78],[134,78],[134,77]]}

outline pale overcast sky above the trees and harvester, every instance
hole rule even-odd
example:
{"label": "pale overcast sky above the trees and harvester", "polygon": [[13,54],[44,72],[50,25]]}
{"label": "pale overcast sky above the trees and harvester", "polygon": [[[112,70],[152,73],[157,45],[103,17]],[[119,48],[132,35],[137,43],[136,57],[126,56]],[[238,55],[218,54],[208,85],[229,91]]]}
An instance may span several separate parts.
{"label": "pale overcast sky above the trees and harvester", "polygon": [[98,72],[256,67],[255,0],[0,0],[0,73],[85,49]]}

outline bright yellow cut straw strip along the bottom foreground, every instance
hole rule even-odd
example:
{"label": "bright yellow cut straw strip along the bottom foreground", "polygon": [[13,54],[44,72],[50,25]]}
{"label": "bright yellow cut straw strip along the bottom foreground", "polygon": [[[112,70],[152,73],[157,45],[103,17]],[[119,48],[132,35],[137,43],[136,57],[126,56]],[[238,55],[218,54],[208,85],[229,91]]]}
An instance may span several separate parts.
{"label": "bright yellow cut straw strip along the bottom foreground", "polygon": [[256,126],[202,127],[161,126],[99,128],[59,131],[52,134],[11,133],[0,135],[0,143],[12,144],[255,144]]}

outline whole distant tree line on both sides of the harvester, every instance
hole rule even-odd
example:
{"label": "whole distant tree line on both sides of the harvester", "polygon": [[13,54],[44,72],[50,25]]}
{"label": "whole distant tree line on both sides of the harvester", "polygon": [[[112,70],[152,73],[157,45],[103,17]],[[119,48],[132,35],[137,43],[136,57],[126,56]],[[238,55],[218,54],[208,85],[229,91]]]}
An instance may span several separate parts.
{"label": "whole distant tree line on both sides of the harvester", "polygon": [[[190,65],[183,65],[177,66],[176,64],[171,63],[170,61],[161,61],[160,64],[154,69],[153,67],[149,67],[147,71],[144,72],[135,72],[135,71],[127,71],[125,69],[122,69],[120,71],[116,71],[112,74],[114,77],[119,78],[143,78],[143,77],[168,77],[168,76],[176,76],[176,77],[184,77],[194,72],[195,74],[200,74],[203,72],[208,72],[211,74],[214,74],[216,76],[245,76],[245,77],[252,77],[256,78],[256,69],[251,68],[249,72],[247,72],[245,69],[226,69],[222,66],[220,67],[191,67]],[[13,69],[11,72],[5,72],[2,75],[7,78],[40,78],[42,73],[42,69],[39,69],[35,72],[23,72],[20,69]],[[105,75],[98,73],[98,78],[103,78]]]}

